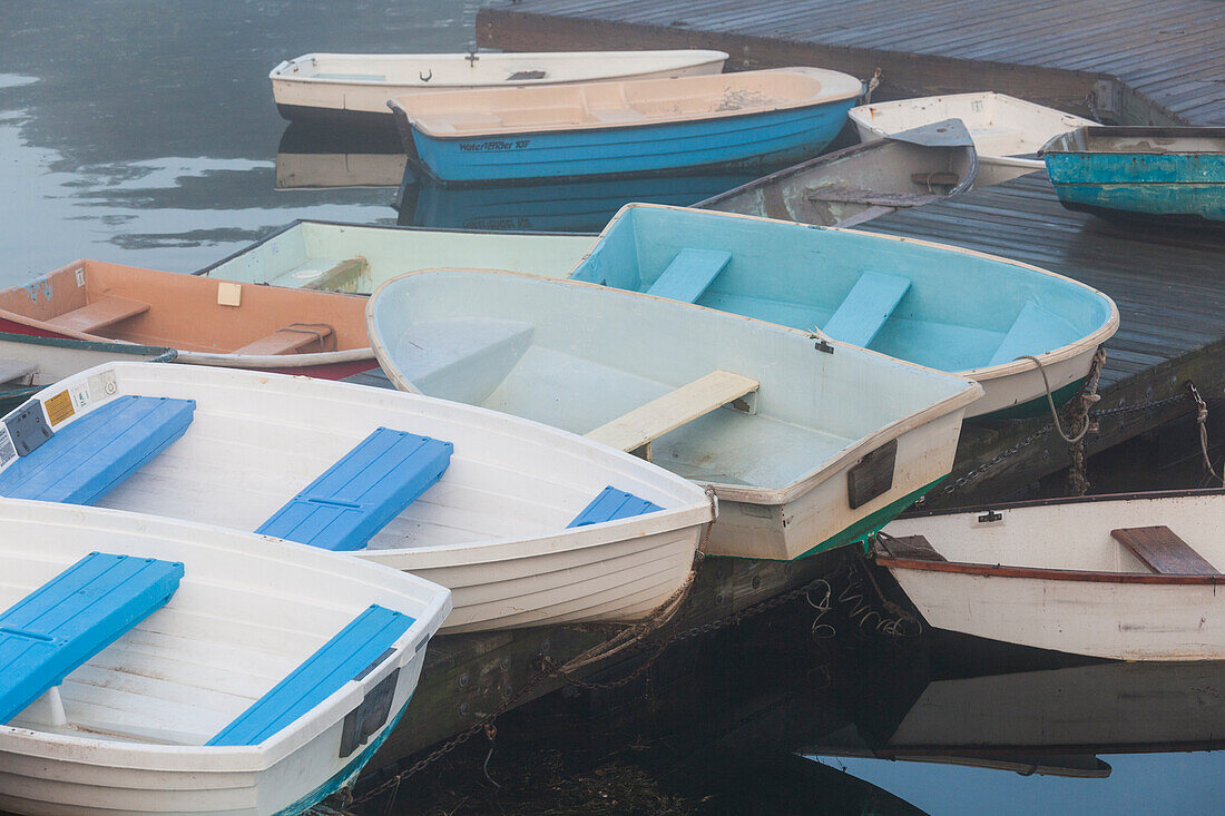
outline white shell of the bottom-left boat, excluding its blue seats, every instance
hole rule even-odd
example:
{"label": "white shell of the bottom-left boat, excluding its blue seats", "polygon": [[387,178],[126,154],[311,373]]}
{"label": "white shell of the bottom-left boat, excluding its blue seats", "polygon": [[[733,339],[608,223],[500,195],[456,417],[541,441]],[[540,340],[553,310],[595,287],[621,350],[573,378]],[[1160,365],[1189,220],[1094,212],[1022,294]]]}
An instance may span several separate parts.
{"label": "white shell of the bottom-left boat, excluding its blue seats", "polygon": [[[65,679],[66,724],[42,720],[39,703],[0,724],[6,811],[309,807],[356,776],[394,728],[451,608],[446,591],[412,576],[207,524],[15,500],[0,500],[0,608],[93,550],[184,564],[165,606]],[[417,618],[392,654],[262,742],[205,745],[370,603]],[[385,722],[369,723],[379,727],[342,756],[347,716],[385,681]]]}

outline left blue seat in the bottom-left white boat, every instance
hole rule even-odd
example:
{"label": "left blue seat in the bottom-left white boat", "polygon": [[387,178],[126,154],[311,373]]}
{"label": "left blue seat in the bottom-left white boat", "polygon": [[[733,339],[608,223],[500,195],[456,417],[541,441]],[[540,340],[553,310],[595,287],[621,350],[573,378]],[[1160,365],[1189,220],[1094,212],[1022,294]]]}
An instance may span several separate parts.
{"label": "left blue seat in the bottom-left white boat", "polygon": [[165,605],[183,565],[91,553],[0,614],[0,723]]}

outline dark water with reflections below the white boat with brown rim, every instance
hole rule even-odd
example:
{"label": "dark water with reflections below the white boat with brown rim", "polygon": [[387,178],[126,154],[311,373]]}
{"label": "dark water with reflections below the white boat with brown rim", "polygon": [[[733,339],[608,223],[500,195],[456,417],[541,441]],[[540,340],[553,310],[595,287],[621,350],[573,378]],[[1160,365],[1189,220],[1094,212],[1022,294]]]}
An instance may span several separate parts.
{"label": "dark water with reflections below the white boat with brown rim", "polygon": [[[862,573],[834,582],[828,613],[813,591],[809,603],[665,652],[624,686],[510,712],[488,766],[503,789],[488,809],[475,803],[491,787],[472,782],[483,779],[484,742],[440,778],[405,783],[399,801],[579,812],[620,796],[641,812],[910,815],[1110,810],[1159,791],[1172,803],[1219,793],[1215,757],[1191,752],[1225,747],[1225,662],[1115,663],[940,632],[865,635],[837,599],[867,586]],[[838,638],[813,638],[827,624]]]}

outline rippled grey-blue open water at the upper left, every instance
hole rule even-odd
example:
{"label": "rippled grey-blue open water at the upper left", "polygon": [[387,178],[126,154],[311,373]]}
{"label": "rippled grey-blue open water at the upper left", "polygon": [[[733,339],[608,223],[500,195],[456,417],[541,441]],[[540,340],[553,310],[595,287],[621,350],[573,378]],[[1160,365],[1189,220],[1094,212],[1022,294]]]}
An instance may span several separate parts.
{"label": "rippled grey-blue open water at the upper left", "polygon": [[[277,192],[268,71],[311,50],[463,50],[478,0],[5,4],[0,285],[75,257],[190,271],[380,190]],[[392,181],[398,184],[398,180]]]}

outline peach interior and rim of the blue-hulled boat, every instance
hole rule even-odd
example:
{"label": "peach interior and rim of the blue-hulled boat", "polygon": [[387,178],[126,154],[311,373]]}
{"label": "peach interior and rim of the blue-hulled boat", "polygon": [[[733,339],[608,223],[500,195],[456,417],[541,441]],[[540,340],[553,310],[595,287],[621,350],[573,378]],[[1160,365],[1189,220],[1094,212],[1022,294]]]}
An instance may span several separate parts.
{"label": "peach interior and rim of the blue-hulled boat", "polygon": [[399,97],[430,136],[494,135],[734,116],[858,97],[859,80],[789,67],[664,80],[532,88],[478,88]]}

